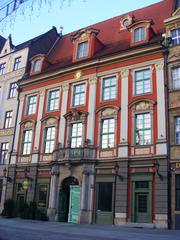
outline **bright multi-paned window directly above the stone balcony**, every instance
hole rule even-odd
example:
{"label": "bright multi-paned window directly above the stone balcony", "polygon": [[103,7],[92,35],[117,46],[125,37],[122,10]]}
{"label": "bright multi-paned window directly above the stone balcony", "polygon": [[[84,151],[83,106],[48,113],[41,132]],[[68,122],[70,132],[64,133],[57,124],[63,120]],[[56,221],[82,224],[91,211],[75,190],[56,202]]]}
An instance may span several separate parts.
{"label": "bright multi-paned window directly above the stone balcony", "polygon": [[71,147],[72,148],[78,148],[82,146],[82,131],[83,131],[82,123],[72,124],[72,129],[71,129]]}

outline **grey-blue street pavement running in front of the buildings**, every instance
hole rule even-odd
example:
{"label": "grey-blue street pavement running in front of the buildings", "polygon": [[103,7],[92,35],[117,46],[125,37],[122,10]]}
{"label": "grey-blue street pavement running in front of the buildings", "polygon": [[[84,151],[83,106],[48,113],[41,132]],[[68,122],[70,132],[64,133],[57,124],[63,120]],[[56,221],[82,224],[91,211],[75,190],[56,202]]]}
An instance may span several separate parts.
{"label": "grey-blue street pavement running in front of the buildings", "polygon": [[0,240],[179,240],[180,231],[0,218]]}

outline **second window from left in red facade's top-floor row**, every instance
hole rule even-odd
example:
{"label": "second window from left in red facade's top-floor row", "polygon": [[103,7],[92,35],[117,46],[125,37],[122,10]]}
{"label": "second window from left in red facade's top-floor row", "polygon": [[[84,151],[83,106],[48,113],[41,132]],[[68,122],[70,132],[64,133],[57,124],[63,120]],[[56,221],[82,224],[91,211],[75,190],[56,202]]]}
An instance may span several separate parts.
{"label": "second window from left in red facade's top-floor row", "polygon": [[59,108],[59,90],[49,92],[47,111],[54,111]]}

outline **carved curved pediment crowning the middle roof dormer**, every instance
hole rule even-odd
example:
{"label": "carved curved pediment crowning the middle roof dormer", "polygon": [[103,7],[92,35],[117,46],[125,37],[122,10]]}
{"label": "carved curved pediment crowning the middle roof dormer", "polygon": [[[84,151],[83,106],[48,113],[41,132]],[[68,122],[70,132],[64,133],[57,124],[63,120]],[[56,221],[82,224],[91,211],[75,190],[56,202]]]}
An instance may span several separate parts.
{"label": "carved curved pediment crowning the middle roof dormer", "polygon": [[71,40],[72,42],[78,40],[79,42],[86,41],[90,38],[91,35],[96,36],[99,33],[99,30],[96,29],[81,29],[72,35]]}

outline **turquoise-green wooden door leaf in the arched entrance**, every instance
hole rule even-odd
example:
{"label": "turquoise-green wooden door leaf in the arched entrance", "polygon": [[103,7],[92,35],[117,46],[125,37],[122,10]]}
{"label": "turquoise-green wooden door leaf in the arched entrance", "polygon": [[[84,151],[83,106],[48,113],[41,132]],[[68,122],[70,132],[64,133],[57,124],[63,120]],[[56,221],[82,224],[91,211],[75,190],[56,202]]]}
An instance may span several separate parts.
{"label": "turquoise-green wooden door leaf in the arched entrance", "polygon": [[80,214],[80,187],[70,186],[70,198],[69,198],[69,223],[78,223]]}

